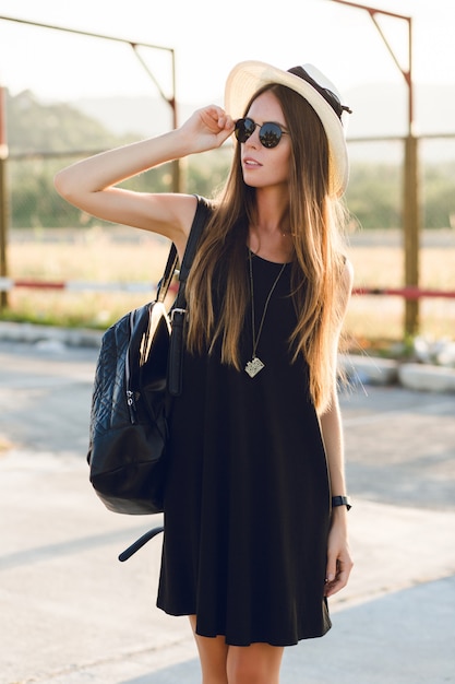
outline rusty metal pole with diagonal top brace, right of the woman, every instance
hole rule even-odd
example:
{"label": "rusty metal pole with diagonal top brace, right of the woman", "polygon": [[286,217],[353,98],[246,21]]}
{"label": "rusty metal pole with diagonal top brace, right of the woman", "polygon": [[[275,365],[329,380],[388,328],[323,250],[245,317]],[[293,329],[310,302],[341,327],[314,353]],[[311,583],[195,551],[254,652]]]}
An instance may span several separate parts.
{"label": "rusty metal pole with diagonal top brace, right of the woman", "polygon": [[[414,90],[412,90],[412,20],[410,16],[395,14],[385,10],[379,10],[366,4],[358,4],[348,0],[332,0],[339,4],[366,10],[378,28],[382,39],[395,64],[403,73],[408,86],[408,134],[405,141],[404,163],[404,197],[403,197],[403,234],[405,251],[405,286],[419,286],[419,256],[420,256],[420,192],[419,192],[419,161],[418,139],[414,134]],[[388,44],[384,33],[375,20],[376,14],[385,14],[400,19],[408,24],[408,69],[403,69]],[[405,300],[405,337],[415,335],[419,330],[419,300]]]}

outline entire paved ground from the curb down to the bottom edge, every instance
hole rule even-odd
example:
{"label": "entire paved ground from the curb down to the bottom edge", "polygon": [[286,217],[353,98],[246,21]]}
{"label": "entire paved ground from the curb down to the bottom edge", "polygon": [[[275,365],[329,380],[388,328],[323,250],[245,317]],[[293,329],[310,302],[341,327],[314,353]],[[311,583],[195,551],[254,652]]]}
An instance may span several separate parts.
{"label": "entire paved ground from the curb down to the bottom edge", "polygon": [[[195,684],[187,621],[154,606],[160,542],[116,561],[151,520],[87,483],[95,361],[0,342],[0,684]],[[283,684],[455,682],[455,397],[358,386],[342,406],[356,568]]]}

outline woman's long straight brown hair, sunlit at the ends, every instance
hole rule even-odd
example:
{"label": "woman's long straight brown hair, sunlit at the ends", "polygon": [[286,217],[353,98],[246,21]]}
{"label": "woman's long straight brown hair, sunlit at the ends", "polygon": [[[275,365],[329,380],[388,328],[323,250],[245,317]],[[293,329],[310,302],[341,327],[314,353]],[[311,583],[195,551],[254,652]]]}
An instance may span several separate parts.
{"label": "woman's long straight brown hair, sunlit at the ends", "polygon": [[[307,101],[283,85],[264,91],[278,99],[291,138],[287,221],[294,241],[291,294],[297,325],[289,340],[292,362],[303,354],[310,393],[322,412],[335,378],[334,340],[340,325],[345,258],[339,245],[340,202],[328,196],[330,153],[322,123]],[[247,107],[247,111],[251,106]],[[255,190],[243,181],[240,145],[230,175],[207,226],[188,286],[188,346],[211,353],[221,340],[221,362],[241,368],[239,339],[248,307],[246,245],[255,223]],[[216,276],[216,278],[215,278]],[[214,283],[223,282],[223,306],[214,315]],[[219,293],[218,293],[219,294]]]}

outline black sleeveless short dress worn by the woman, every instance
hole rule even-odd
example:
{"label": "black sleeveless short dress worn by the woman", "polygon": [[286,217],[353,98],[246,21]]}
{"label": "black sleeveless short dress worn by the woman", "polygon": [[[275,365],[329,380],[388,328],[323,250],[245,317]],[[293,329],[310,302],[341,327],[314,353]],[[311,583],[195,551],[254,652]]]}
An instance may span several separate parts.
{"label": "black sleeveless short dress worn by the woman", "polygon": [[[246,250],[246,269],[249,269]],[[251,260],[256,326],[283,264]],[[331,493],[286,264],[258,344],[264,368],[184,355],[170,415],[158,608],[196,615],[196,633],[249,646],[290,646],[331,627],[324,599]],[[247,271],[248,272],[248,271]],[[241,340],[252,356],[251,312]]]}

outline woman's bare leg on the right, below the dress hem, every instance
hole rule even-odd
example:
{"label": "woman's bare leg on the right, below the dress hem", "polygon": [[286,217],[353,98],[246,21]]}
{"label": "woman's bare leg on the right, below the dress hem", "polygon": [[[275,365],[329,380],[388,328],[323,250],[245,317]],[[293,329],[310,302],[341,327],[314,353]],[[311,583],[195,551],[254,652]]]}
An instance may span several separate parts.
{"label": "woman's bare leg on the right, below the dress hem", "polygon": [[279,684],[283,652],[270,644],[229,646],[228,684]]}

